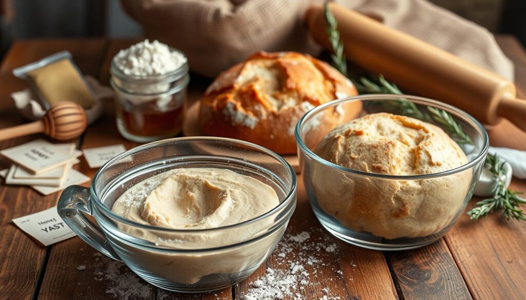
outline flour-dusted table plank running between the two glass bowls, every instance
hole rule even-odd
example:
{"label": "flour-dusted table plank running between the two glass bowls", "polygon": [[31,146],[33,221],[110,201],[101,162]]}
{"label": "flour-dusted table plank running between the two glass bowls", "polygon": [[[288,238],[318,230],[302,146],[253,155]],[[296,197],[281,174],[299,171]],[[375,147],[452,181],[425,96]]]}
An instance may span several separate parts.
{"label": "flour-dusted table plank running between the two glass bowls", "polygon": [[[308,203],[301,175],[298,182],[296,211],[280,244],[301,232],[308,232],[309,239],[298,245],[278,245],[266,265],[260,266],[256,273],[235,286],[236,299],[241,300],[245,294],[250,293],[251,283],[264,276],[267,267],[288,272],[291,263],[296,262],[300,262],[308,273],[307,276],[301,277],[306,277],[308,284],[298,284],[292,295],[286,296],[285,299],[294,299],[296,293],[305,299],[316,300],[324,295],[329,299],[397,299],[397,292],[382,252],[349,245],[322,230]],[[334,250],[327,251],[324,245],[332,246]],[[307,250],[302,249],[304,246]],[[288,247],[290,252],[283,251]],[[316,261],[309,264],[309,256],[311,260],[313,258]]]}

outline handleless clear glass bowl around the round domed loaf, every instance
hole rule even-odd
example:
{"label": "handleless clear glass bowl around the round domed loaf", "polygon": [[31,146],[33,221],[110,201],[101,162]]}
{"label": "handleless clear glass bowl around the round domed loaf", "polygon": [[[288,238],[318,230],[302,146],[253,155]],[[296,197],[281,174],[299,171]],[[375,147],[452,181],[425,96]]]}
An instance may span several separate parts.
{"label": "handleless clear glass bowl around the round domed loaf", "polygon": [[[406,101],[406,102],[401,102]],[[433,174],[387,175],[342,167],[318,156],[318,142],[332,129],[377,112],[404,115],[409,102],[427,122],[429,108],[449,113],[471,143],[459,143],[468,157],[460,167]],[[404,108],[405,107],[405,108]],[[414,117],[414,111],[410,113]],[[463,213],[473,194],[488,135],[468,113],[442,102],[408,95],[364,95],[330,101],[313,108],[297,124],[296,141],[310,205],[321,225],[339,239],[377,250],[404,250],[437,241]]]}

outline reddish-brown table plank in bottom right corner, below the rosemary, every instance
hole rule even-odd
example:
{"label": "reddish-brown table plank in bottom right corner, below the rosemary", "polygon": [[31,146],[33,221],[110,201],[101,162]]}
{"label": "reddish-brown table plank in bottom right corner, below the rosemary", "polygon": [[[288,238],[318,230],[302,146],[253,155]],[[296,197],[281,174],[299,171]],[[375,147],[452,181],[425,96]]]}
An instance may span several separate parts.
{"label": "reddish-brown table plank in bottom right corner, below the rosemary", "polygon": [[[511,188],[526,191],[523,182],[514,182]],[[472,199],[468,210],[479,200]],[[499,213],[478,221],[463,215],[446,241],[474,298],[526,298],[524,221],[503,220]]]}

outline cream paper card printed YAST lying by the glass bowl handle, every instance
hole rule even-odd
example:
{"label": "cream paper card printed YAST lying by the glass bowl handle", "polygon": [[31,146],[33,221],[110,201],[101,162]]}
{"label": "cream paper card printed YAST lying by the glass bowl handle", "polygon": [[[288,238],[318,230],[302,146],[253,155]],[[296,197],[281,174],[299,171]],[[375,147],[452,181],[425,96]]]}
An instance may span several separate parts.
{"label": "cream paper card printed YAST lying by the glass bowl handle", "polygon": [[75,233],[60,218],[57,207],[13,219],[13,223],[27,234],[33,236],[44,246],[48,246],[75,236]]}

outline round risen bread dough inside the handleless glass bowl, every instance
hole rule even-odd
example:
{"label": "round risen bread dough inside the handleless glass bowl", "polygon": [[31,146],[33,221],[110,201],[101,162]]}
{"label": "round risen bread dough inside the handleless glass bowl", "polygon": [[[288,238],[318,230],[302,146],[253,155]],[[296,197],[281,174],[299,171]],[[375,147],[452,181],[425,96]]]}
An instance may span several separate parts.
{"label": "round risen bread dough inside the handleless glass bowl", "polygon": [[[375,113],[330,131],[315,153],[343,167],[379,174],[421,175],[468,163],[439,127]],[[417,237],[446,227],[468,193],[471,171],[418,181],[373,179],[313,165],[318,204],[344,226],[386,239]]]}

